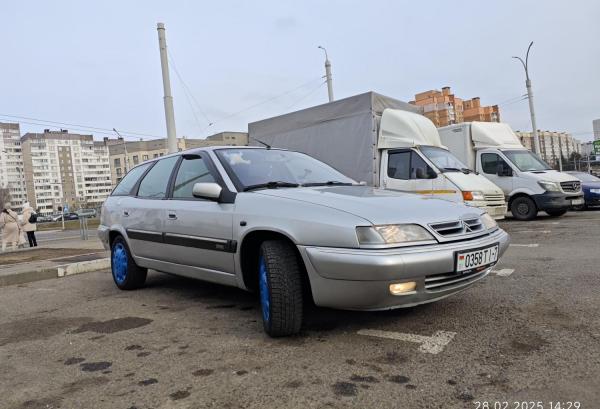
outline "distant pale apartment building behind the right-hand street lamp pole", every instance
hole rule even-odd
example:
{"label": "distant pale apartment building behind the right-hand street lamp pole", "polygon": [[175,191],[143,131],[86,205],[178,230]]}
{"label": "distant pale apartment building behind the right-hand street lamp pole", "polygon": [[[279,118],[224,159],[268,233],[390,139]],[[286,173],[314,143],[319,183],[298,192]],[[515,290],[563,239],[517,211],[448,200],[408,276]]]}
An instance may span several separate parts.
{"label": "distant pale apartment building behind the right-hand street lamp pole", "polygon": [[[517,134],[523,146],[533,150],[532,132],[516,131],[515,134]],[[581,155],[581,142],[567,132],[538,130],[538,137],[540,139],[540,156],[552,167],[558,168],[558,155],[560,152],[562,152],[563,161],[569,160],[573,153]]]}

